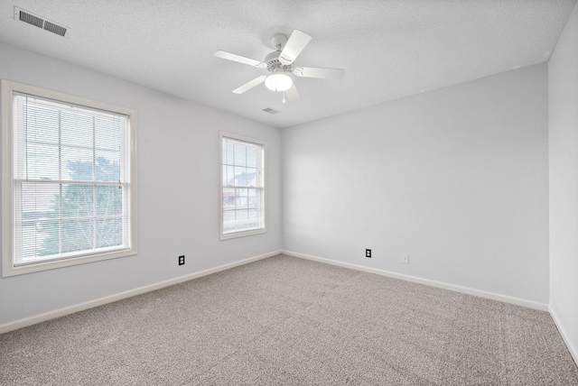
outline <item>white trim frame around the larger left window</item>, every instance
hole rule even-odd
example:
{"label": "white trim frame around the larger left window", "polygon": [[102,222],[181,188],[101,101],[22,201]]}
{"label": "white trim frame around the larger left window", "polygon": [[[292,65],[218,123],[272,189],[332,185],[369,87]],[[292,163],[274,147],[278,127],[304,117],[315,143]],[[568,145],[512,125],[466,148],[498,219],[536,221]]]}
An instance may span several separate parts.
{"label": "white trim frame around the larger left window", "polygon": [[[137,253],[137,153],[136,153],[136,110],[123,106],[115,106],[104,102],[95,101],[84,97],[75,97],[57,91],[47,90],[17,83],[11,80],[0,81],[2,97],[0,108],[2,109],[2,277],[20,275],[37,271],[47,271],[56,268],[69,267],[87,262],[99,262],[102,260],[115,259],[135,255]],[[130,184],[128,194],[130,197],[130,247],[128,249],[90,253],[69,259],[52,260],[46,262],[34,262],[31,264],[14,266],[14,127],[13,106],[14,92],[29,94],[42,98],[49,98],[61,103],[70,103],[79,106],[87,106],[98,110],[105,110],[129,117],[130,141]]]}

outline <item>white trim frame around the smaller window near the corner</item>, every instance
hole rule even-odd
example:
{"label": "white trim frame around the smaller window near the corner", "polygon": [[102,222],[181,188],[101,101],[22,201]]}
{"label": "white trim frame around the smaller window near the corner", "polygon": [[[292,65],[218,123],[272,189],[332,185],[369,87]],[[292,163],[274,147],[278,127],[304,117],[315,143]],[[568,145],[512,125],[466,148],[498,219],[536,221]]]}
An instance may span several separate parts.
{"label": "white trim frame around the smaller window near the corner", "polygon": [[[264,226],[259,229],[251,229],[248,231],[238,231],[229,234],[223,234],[223,138],[230,138],[232,140],[238,140],[242,142],[255,143],[257,145],[263,146],[263,221]],[[236,133],[219,132],[219,204],[220,204],[220,240],[230,240],[238,237],[252,236],[255,234],[266,234],[267,232],[267,168],[266,168],[266,142],[262,140],[257,140],[255,138],[250,138],[244,135],[239,135]]]}

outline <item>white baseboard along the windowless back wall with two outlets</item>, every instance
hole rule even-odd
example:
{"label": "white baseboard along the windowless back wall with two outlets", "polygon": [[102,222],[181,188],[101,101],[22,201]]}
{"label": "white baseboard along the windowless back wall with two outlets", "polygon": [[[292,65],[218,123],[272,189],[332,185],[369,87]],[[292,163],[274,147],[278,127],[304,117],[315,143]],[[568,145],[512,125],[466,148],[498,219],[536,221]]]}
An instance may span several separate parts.
{"label": "white baseboard along the windowless back wall with two outlets", "polygon": [[387,277],[394,278],[394,279],[412,281],[415,283],[424,284],[426,286],[436,287],[436,288],[440,288],[440,289],[449,289],[449,290],[452,290],[455,292],[461,292],[461,293],[465,293],[468,295],[478,296],[480,298],[503,301],[505,303],[515,304],[517,306],[539,309],[541,311],[548,311],[549,310],[547,304],[539,303],[539,302],[532,301],[532,300],[514,298],[514,297],[507,296],[507,295],[500,295],[500,294],[497,294],[494,292],[488,292],[488,291],[484,291],[484,290],[480,290],[480,289],[471,289],[469,287],[461,287],[461,286],[454,285],[454,284],[444,283],[442,281],[422,279],[422,278],[418,278],[415,276],[404,275],[402,273],[379,270],[377,268],[365,267],[363,265],[351,264],[350,262],[338,262],[336,260],[326,259],[326,258],[318,257],[318,256],[312,256],[309,254],[295,253],[295,252],[291,252],[291,251],[282,251],[282,253],[289,255],[289,256],[294,256],[294,257],[306,259],[306,260],[312,260],[314,262],[324,262],[327,264],[339,265],[340,267],[350,268],[352,270],[364,271],[364,272],[369,272],[369,273],[376,273],[378,275],[387,276]]}

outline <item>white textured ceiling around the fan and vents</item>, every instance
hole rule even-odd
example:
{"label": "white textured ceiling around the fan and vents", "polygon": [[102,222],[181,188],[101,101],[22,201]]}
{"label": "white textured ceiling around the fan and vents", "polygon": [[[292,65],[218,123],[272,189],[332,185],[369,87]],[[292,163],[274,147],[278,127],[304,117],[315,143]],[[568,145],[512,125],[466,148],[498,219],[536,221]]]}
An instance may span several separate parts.
{"label": "white textured ceiling around the fan and vents", "polygon": [[[0,41],[287,127],[548,60],[575,2],[0,0]],[[14,20],[14,5],[70,37]],[[294,78],[301,99],[287,104],[264,85],[233,94],[266,69],[213,52],[263,60],[270,36],[294,29],[312,35],[297,65],[345,77]]]}

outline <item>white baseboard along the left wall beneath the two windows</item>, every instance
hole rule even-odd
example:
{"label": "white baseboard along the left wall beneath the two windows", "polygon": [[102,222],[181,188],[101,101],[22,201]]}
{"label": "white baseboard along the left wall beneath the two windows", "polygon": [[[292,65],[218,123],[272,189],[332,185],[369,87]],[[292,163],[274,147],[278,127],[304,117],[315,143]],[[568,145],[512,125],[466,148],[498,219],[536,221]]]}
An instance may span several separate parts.
{"label": "white baseboard along the left wall beneath the two windows", "polygon": [[150,284],[144,287],[139,287],[136,289],[129,289],[124,292],[119,292],[114,295],[106,296],[104,298],[94,299],[85,301],[84,303],[79,303],[74,306],[60,308],[49,312],[44,312],[39,315],[34,315],[33,317],[24,317],[23,319],[15,320],[14,322],[8,322],[4,325],[0,325],[0,334],[7,333],[9,331],[14,331],[18,328],[22,328],[25,326],[32,326],[37,323],[42,323],[46,320],[54,319],[56,317],[64,317],[66,315],[73,314],[75,312],[83,311],[89,308],[95,308],[98,306],[102,306],[107,303],[112,303],[117,300],[130,298],[136,295],[143,294],[145,292],[150,292],[155,289],[162,289],[164,287],[169,287],[174,284],[182,283],[183,281],[188,281],[196,278],[200,278],[202,276],[210,275],[211,273],[217,273],[219,271],[226,271],[231,268],[237,267],[239,265],[247,264],[249,262],[256,262],[257,260],[266,259],[271,256],[275,256],[281,253],[281,251],[275,251],[272,253],[265,253],[258,256],[250,257],[248,259],[240,260],[238,262],[229,262],[228,264],[219,265],[218,267],[210,268],[204,271],[193,272],[188,275],[179,276],[177,278],[171,280],[164,280],[154,284]]}

